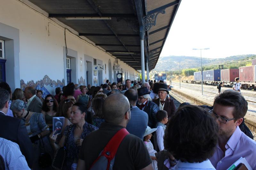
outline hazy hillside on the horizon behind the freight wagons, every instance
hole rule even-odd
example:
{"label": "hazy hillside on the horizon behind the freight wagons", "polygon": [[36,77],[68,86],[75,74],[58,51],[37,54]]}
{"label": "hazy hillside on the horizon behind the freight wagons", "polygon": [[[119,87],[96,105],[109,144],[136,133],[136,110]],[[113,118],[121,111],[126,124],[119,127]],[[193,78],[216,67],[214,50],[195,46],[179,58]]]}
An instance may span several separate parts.
{"label": "hazy hillside on the horizon behind the freight wagons", "polygon": [[[202,58],[203,66],[210,66],[214,64],[223,64],[232,61],[244,61],[251,58],[256,58],[256,55],[235,55],[225,58]],[[201,58],[194,57],[194,56],[164,56],[160,57],[155,71],[162,71],[162,70],[179,70],[179,62],[180,62],[180,69],[187,69],[187,68],[199,68],[201,67]]]}

